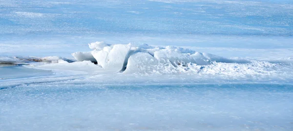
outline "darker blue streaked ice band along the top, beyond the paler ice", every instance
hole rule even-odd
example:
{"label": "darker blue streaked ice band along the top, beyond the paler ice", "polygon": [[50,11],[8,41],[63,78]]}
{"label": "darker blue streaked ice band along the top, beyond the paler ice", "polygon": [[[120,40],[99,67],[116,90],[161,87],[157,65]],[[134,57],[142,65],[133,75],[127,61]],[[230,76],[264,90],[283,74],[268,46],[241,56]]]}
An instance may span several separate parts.
{"label": "darker blue streaked ice band along the top, beyond the paler ice", "polygon": [[1,34],[292,34],[291,0],[1,0]]}

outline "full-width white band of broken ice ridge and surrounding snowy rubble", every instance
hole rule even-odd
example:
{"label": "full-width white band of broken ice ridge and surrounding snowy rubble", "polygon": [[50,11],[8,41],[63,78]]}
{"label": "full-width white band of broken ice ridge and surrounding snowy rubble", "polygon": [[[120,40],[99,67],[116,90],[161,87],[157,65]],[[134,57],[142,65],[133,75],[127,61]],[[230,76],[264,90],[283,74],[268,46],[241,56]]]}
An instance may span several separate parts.
{"label": "full-width white band of broken ice ridge and surrounding snowy rubble", "polygon": [[[101,42],[96,42],[101,43]],[[175,79],[187,79],[190,81],[209,82],[219,81],[255,81],[255,82],[290,82],[293,70],[291,59],[284,62],[263,61],[238,57],[221,57],[209,53],[201,53],[190,48],[178,46],[151,46],[147,44],[107,44],[102,50],[96,48],[86,53],[73,53],[80,58],[84,54],[93,56],[96,61],[73,62],[67,58],[50,56],[36,57],[2,57],[2,63],[6,61],[21,61],[37,69],[53,70],[57,75],[63,74],[93,74],[93,75],[135,75],[142,79],[145,76],[178,75]],[[89,54],[90,53],[90,54]],[[41,63],[39,63],[41,62]],[[92,63],[94,62],[94,63]],[[52,65],[53,64],[53,65]],[[95,65],[96,64],[96,65]],[[7,64],[6,64],[7,65]],[[58,73],[62,70],[65,73]],[[82,71],[82,72],[75,72]],[[130,76],[128,76],[130,77]],[[157,76],[156,76],[157,77]],[[192,80],[192,78],[194,80]],[[144,78],[146,79],[146,78]]]}

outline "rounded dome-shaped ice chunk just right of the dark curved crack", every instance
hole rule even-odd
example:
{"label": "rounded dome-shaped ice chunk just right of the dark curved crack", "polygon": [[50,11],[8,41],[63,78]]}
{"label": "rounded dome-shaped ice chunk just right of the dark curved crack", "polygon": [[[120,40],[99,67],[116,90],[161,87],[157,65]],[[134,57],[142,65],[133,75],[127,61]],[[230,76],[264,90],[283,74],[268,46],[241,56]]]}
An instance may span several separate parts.
{"label": "rounded dome-shaped ice chunk just right of the dark curved crack", "polygon": [[159,61],[146,52],[137,52],[132,54],[127,62],[125,73],[130,72],[152,72]]}

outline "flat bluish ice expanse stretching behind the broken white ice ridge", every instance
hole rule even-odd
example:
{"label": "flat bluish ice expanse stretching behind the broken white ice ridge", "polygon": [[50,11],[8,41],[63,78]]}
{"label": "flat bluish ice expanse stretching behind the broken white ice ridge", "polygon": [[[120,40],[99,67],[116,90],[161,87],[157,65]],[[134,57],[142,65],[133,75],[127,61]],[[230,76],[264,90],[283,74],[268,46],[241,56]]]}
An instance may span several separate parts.
{"label": "flat bluish ice expanse stretching behind the broken white ice ridge", "polygon": [[291,0],[1,0],[0,7],[0,55],[70,56],[95,41],[293,48]]}

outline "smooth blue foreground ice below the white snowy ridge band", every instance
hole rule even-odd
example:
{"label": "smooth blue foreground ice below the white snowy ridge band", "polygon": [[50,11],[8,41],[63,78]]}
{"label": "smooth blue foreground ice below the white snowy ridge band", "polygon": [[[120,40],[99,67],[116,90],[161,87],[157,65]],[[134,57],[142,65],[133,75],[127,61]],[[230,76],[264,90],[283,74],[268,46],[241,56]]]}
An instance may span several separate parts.
{"label": "smooth blue foreground ice below the white snowy ridge band", "polygon": [[0,90],[2,131],[292,131],[293,86],[53,82]]}

